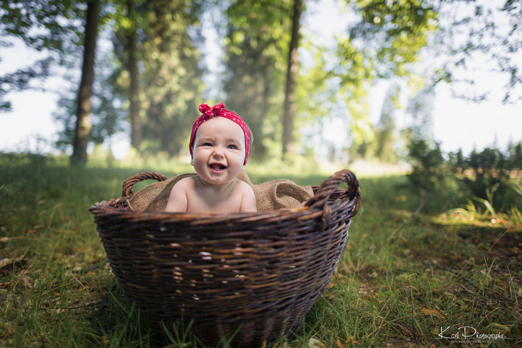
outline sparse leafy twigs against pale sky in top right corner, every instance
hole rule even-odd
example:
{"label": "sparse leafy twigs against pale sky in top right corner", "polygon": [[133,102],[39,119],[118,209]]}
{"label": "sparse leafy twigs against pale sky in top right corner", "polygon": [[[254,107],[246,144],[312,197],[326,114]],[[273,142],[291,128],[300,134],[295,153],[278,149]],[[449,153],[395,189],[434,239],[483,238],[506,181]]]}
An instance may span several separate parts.
{"label": "sparse leafy twigs against pale sky in top right corner", "polygon": [[[456,14],[454,20],[449,21],[443,35],[437,38],[448,56],[443,66],[448,80],[452,79],[453,70],[469,66],[477,56],[482,56],[479,65],[483,62],[495,64],[491,69],[502,74],[507,81],[504,86],[503,103],[520,99],[518,88],[522,82],[522,75],[520,59],[516,57],[522,44],[520,4],[520,0],[499,0],[467,3],[467,10],[464,10],[463,6],[454,7],[462,10]],[[464,37],[465,40],[460,39]],[[458,78],[455,79],[455,82],[457,81]],[[465,82],[469,85],[465,86],[466,90],[459,98],[474,102],[486,99],[487,91],[473,91],[472,78]]]}

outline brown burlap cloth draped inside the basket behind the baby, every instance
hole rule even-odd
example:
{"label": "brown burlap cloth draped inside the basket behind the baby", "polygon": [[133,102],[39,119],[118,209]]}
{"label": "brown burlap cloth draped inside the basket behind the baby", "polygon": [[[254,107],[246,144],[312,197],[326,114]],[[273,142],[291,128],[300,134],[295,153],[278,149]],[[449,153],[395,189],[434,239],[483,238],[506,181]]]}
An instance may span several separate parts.
{"label": "brown burlap cloth draped inside the basket behind the baby", "polygon": [[[194,175],[196,173],[180,174],[140,189],[128,200],[129,208],[138,211],[164,212],[172,187],[181,179]],[[245,171],[241,171],[238,179],[250,185],[254,190],[257,211],[302,207],[307,200],[314,196],[312,187],[299,186],[288,179],[276,179],[268,183],[254,185]]]}

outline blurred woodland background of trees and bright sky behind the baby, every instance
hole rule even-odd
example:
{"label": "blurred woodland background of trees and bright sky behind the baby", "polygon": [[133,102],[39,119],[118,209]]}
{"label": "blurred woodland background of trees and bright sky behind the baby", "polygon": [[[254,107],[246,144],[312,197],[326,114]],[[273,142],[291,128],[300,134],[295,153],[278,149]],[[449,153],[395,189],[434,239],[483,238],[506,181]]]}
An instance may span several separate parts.
{"label": "blurred woodland background of trees and bright sky behind the baby", "polygon": [[408,173],[424,193],[451,173],[485,200],[519,185],[520,1],[0,6],[4,153],[191,170],[197,106],[224,102],[256,172]]}

